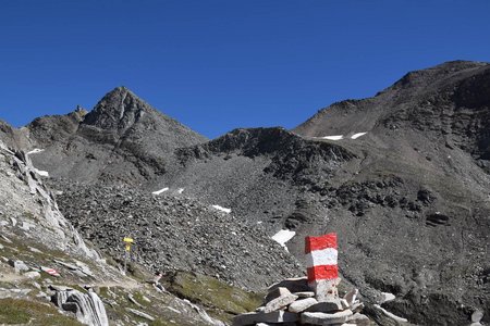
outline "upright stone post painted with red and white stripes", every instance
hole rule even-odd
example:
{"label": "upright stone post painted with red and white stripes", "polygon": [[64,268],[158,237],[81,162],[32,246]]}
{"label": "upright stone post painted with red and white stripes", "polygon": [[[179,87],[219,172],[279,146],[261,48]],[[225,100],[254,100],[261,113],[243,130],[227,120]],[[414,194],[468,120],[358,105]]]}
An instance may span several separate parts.
{"label": "upright stone post painted with red and white stripes", "polygon": [[306,267],[308,284],[317,300],[329,301],[339,297],[340,283],[336,234],[305,238]]}

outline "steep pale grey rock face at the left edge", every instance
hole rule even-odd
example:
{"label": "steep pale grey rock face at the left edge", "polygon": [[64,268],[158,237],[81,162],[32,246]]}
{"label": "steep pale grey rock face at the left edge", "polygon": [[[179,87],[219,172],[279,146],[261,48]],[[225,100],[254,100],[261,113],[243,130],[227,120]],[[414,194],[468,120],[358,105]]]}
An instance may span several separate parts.
{"label": "steep pale grey rock face at the left edge", "polygon": [[[22,233],[24,237],[53,249],[99,258],[60,213],[53,195],[36,174],[29,155],[23,151],[13,152],[0,141],[0,184],[4,185],[0,191],[0,205],[5,210],[0,214],[0,221],[7,222],[2,226],[3,235]],[[15,223],[11,223],[13,221]],[[13,264],[15,267],[15,262]],[[16,265],[20,272],[27,271],[25,264]]]}

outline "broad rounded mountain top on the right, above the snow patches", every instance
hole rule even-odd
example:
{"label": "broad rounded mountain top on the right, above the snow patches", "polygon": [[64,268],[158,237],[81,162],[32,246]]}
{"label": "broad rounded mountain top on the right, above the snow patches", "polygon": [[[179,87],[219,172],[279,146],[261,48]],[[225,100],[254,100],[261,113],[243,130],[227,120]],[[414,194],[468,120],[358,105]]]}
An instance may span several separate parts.
{"label": "broad rounded mountain top on the right, above the snow patches", "polygon": [[431,141],[455,145],[477,160],[489,160],[489,90],[490,64],[448,62],[411,72],[373,98],[334,103],[293,131],[307,137],[424,131]]}

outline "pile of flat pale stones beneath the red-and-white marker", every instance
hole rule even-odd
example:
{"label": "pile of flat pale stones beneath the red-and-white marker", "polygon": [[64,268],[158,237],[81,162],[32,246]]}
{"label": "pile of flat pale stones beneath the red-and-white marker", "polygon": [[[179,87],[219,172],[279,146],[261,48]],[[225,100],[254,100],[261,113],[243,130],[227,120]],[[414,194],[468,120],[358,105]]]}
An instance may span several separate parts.
{"label": "pile of flat pale stones beneath the red-and-white marker", "polygon": [[356,298],[357,293],[357,289],[353,289],[343,298],[336,294],[328,301],[319,301],[306,277],[289,278],[270,287],[264,305],[253,313],[236,316],[233,325],[368,326],[370,322],[360,314],[364,304]]}

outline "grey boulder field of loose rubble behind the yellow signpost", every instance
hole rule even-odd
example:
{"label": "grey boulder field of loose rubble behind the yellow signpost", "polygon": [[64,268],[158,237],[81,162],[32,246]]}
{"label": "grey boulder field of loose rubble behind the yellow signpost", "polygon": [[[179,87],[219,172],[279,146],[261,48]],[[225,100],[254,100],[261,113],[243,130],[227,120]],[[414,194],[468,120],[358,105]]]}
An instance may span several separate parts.
{"label": "grey boulder field of loose rubble behind the yellow signpost", "polygon": [[135,239],[134,259],[154,271],[188,271],[261,290],[299,263],[269,238],[264,225],[197,200],[125,187],[65,185],[59,202],[82,236],[113,258]]}

